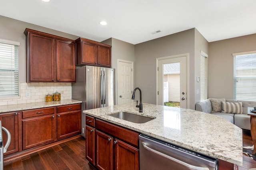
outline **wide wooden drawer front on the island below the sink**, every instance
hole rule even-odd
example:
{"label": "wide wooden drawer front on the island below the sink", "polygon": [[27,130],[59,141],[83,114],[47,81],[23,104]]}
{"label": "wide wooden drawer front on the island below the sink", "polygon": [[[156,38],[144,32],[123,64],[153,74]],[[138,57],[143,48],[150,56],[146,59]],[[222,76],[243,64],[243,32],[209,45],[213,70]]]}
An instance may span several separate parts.
{"label": "wide wooden drawer front on the island below the sink", "polygon": [[113,125],[111,123],[96,119],[95,121],[96,129],[108,133],[122,141],[130,143],[136,147],[138,147],[139,143],[139,133],[134,131],[130,131],[123,127],[119,127],[117,125]]}

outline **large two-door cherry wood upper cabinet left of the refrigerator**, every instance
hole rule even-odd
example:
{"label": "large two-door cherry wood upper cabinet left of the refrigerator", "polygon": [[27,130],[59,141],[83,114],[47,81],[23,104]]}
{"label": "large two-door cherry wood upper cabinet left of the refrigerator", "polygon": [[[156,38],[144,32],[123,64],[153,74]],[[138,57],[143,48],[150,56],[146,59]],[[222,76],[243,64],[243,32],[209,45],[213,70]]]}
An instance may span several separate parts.
{"label": "large two-door cherry wood upper cabinet left of the refrigerator", "polygon": [[26,81],[75,82],[76,43],[26,28]]}

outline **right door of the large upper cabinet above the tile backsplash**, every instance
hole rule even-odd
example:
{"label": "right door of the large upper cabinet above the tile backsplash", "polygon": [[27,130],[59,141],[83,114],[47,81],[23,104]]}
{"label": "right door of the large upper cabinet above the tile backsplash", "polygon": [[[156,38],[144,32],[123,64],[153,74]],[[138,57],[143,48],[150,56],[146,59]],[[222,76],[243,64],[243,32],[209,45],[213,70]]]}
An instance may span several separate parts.
{"label": "right door of the large upper cabinet above the tile backsplash", "polygon": [[56,39],[56,81],[76,81],[76,44]]}

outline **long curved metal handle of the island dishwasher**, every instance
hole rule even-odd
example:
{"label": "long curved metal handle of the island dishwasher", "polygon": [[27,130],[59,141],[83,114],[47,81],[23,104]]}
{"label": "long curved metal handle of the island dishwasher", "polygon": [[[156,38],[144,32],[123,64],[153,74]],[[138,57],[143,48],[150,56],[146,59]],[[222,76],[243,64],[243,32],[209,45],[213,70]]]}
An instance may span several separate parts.
{"label": "long curved metal handle of the island dishwasher", "polygon": [[164,153],[162,153],[162,152],[159,152],[159,151],[157,151],[157,150],[154,150],[154,149],[148,147],[148,146],[146,145],[146,143],[144,143],[144,142],[142,142],[142,146],[143,146],[145,149],[147,149],[148,151],[153,152],[153,153],[155,153],[155,154],[158,154],[158,155],[160,155],[160,156],[163,156],[163,157],[165,157],[165,158],[167,158],[167,159],[170,159],[170,160],[172,160],[172,161],[174,161],[174,162],[177,162],[178,164],[181,164],[181,165],[183,165],[183,166],[186,166],[186,167],[189,168],[190,170],[209,170],[209,168],[207,168],[207,167],[200,167],[200,166],[190,165],[190,164],[188,164],[188,163],[186,163],[186,162],[183,162],[183,161],[178,160],[178,159],[176,159],[176,158],[173,158],[173,157],[171,157],[171,156],[169,156],[169,155],[166,155],[166,154],[164,154]]}

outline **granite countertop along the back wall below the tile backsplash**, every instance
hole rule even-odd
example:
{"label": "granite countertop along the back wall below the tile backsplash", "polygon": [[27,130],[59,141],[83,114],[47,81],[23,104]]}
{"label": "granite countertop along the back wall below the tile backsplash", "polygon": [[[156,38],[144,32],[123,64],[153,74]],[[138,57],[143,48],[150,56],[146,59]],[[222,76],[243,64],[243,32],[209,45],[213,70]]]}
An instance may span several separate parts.
{"label": "granite countertop along the back wall below the tile backsplash", "polygon": [[0,106],[0,113],[9,112],[9,111],[27,110],[27,109],[38,109],[43,107],[61,106],[61,105],[67,105],[67,104],[77,104],[77,103],[82,103],[82,101],[74,100],[74,99],[66,99],[66,100],[60,100],[58,102],[35,102],[35,103],[27,103],[27,104],[4,105],[4,106]]}

